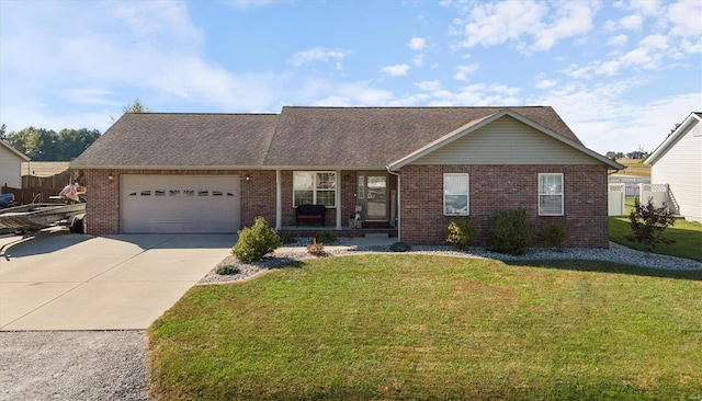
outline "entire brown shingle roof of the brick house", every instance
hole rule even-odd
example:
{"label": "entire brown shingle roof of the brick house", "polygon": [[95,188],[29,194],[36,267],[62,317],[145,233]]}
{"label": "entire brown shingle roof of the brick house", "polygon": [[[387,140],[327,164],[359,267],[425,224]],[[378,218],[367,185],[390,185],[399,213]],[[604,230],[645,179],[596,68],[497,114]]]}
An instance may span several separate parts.
{"label": "entire brown shingle roof of the brick house", "polygon": [[582,145],[548,106],[286,106],[281,114],[125,114],[71,167],[384,168],[505,110]]}

